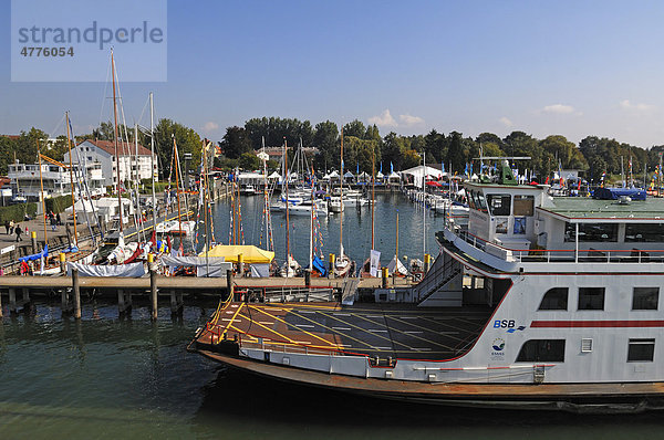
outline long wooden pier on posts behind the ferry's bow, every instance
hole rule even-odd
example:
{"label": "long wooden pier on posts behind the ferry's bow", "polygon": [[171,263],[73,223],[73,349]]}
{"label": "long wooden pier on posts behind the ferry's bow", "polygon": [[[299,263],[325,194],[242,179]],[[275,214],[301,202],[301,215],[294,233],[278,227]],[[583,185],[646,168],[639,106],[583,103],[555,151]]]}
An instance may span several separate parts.
{"label": "long wooden pier on posts behind the ferry's bow", "polygon": [[[80,276],[77,271],[72,276],[1,276],[0,277],[0,317],[2,317],[2,296],[7,297],[9,312],[17,314],[28,311],[34,297],[61,297],[63,314],[81,317],[81,292],[95,291],[95,296],[117,297],[118,313],[131,312],[133,297],[149,298],[152,318],[157,318],[158,297],[169,297],[173,314],[180,314],[185,298],[189,301],[207,301],[227,298],[229,293],[235,298],[251,301],[307,301],[311,297],[325,296],[329,301],[341,300],[343,295],[352,296],[355,291],[373,291],[387,287],[409,287],[406,279],[325,279],[325,277],[237,277],[232,273],[227,277],[191,277],[162,276],[151,271],[144,277],[116,276]],[[352,290],[353,292],[349,292]],[[269,296],[267,293],[270,293]],[[18,298],[17,293],[21,293]],[[31,298],[32,297],[32,298]]]}

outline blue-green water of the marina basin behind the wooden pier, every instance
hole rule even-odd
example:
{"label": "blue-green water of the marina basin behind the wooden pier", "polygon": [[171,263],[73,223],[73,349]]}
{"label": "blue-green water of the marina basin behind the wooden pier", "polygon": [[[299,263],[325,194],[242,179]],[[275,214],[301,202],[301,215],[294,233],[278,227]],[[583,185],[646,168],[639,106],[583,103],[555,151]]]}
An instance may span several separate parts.
{"label": "blue-green water of the marina basin behind the wooden pier", "polygon": [[[266,249],[264,226],[261,222],[263,211],[263,196],[241,198],[242,235],[245,244],[255,244]],[[443,216],[434,216],[427,210],[424,218],[423,209],[412,203],[401,192],[376,195],[374,211],[374,248],[381,252],[381,264],[387,265],[396,252],[396,216],[398,224],[398,253],[402,262],[408,265],[409,259],[424,260],[423,240],[426,238],[426,252],[436,256],[439,247],[434,233],[443,229]],[[230,203],[221,200],[212,208],[215,221],[215,239],[217,242],[229,242]],[[360,266],[371,251],[371,206],[349,207],[343,213],[320,214],[320,237],[322,238],[323,261],[328,262],[328,254],[339,255],[340,226],[343,216],[343,248],[344,252],[355,260]],[[236,218],[239,216],[236,214]],[[302,265],[309,265],[309,216],[289,216],[290,243],[293,258]],[[426,231],[424,228],[426,227]],[[276,259],[286,261],[286,212],[272,212],[273,244]],[[239,235],[239,233],[238,233]]]}

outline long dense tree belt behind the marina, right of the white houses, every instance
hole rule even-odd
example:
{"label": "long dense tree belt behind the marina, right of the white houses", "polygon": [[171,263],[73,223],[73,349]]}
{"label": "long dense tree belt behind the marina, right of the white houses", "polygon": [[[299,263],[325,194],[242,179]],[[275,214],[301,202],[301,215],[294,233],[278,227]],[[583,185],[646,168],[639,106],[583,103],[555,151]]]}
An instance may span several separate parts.
{"label": "long dense tree belt behind the marina, right of the white houses", "polygon": [[[652,172],[660,164],[660,153],[664,151],[664,145],[644,149],[598,136],[588,136],[575,145],[561,135],[538,139],[525,132],[512,132],[502,138],[492,133],[473,138],[459,132],[446,135],[435,129],[426,135],[403,136],[390,132],[381,136],[377,126],[365,126],[357,119],[343,125],[343,140],[345,169],[371,172],[375,160],[376,170],[382,168],[384,174],[391,168],[402,170],[417,166],[426,153],[427,165],[443,163],[447,171],[452,167],[453,172],[460,175],[467,164],[475,163],[475,170],[478,169],[481,150],[485,157],[530,157],[520,160],[518,167],[540,178],[563,168],[582,170],[587,179],[598,180],[604,172],[616,175],[623,169],[629,172],[630,160],[634,176]],[[247,158],[253,156],[253,151],[263,145],[282,146],[284,142],[289,148],[300,142],[317,147],[319,154],[313,158],[317,169],[340,169],[341,130],[335,123],[325,121],[312,126],[309,121],[279,117],[252,118],[243,127],[228,127],[219,142],[224,151],[221,163],[240,160],[251,165]],[[225,163],[224,159],[230,160]]]}

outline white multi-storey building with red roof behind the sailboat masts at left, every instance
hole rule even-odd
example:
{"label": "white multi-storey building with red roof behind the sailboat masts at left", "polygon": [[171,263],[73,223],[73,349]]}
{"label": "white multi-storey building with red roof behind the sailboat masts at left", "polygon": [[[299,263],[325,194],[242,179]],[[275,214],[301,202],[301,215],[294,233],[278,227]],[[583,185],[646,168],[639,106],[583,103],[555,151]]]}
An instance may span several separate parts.
{"label": "white multi-storey building with red roof behind the sailboat masts at left", "polygon": [[[152,158],[151,150],[138,144],[121,142],[117,144],[117,155],[120,160],[120,179],[142,180],[152,178]],[[113,140],[93,140],[86,139],[79,144],[75,150],[72,150],[72,159],[84,166],[91,166],[95,163],[102,166],[102,176],[105,186],[117,185],[117,169],[115,164],[115,142]],[[69,153],[64,155],[64,161],[69,163]],[[157,158],[154,160],[155,178],[158,176]]]}

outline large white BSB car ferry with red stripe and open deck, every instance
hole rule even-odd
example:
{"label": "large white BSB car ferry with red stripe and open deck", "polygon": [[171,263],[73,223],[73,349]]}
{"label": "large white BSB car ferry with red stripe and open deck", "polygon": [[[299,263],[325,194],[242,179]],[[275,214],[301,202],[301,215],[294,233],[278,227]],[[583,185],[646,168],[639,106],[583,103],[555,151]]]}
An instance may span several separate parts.
{"label": "large white BSB car ferry with red stripe and open deck", "polygon": [[467,182],[468,226],[374,304],[226,302],[190,348],[260,375],[448,405],[640,411],[664,402],[664,200]]}

